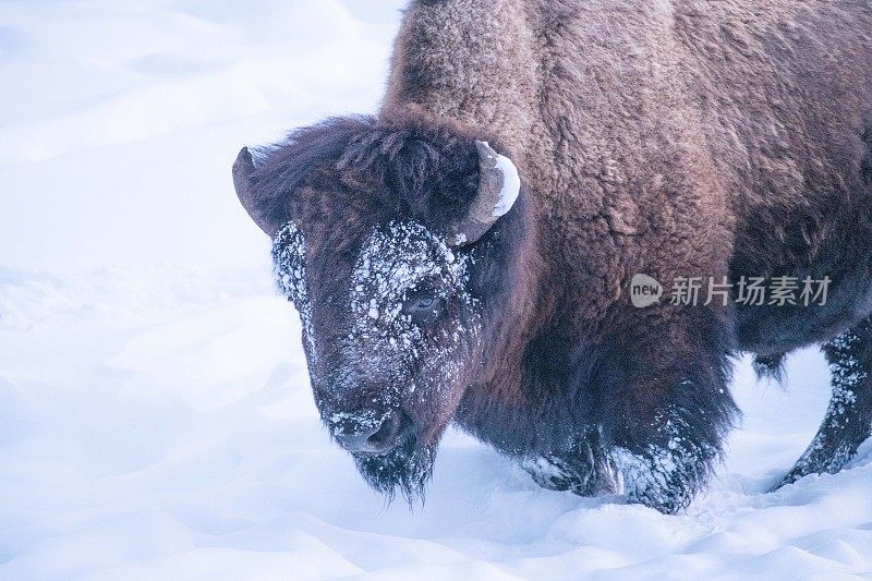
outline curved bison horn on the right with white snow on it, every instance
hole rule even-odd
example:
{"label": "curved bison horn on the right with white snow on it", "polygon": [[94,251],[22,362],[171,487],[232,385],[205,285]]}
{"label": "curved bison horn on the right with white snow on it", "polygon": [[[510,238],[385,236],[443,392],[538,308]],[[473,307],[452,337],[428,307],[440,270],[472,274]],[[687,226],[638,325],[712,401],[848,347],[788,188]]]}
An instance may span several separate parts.
{"label": "curved bison horn on the right with white snow on it", "polygon": [[486,142],[479,149],[479,192],[467,216],[451,227],[448,243],[467,246],[477,242],[518,201],[521,179],[508,157],[497,154]]}

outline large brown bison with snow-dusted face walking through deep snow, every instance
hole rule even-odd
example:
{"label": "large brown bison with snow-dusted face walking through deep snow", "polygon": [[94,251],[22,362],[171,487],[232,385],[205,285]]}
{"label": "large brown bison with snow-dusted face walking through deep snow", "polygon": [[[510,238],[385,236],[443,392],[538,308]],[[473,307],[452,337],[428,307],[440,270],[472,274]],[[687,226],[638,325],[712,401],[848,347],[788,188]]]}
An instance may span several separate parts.
{"label": "large brown bison with snow-dusted face walking through deep snow", "polygon": [[[784,483],[872,432],[868,0],[414,0],[376,116],[233,177],[320,415],[390,497],[423,495],[453,423],[547,488],[679,511],[742,352],[832,366]],[[749,302],[764,279],[780,299]],[[682,300],[694,280],[725,300]]]}

